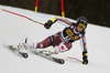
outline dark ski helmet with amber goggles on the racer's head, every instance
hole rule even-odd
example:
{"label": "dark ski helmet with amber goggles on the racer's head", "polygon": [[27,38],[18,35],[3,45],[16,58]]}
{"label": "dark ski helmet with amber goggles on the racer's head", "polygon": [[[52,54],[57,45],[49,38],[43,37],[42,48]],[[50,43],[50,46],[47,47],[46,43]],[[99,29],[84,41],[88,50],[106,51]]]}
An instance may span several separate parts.
{"label": "dark ski helmet with amber goggles on the racer's head", "polygon": [[82,29],[87,28],[87,19],[85,17],[79,17],[77,19],[76,27],[81,27]]}

